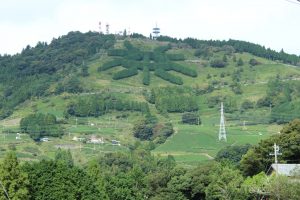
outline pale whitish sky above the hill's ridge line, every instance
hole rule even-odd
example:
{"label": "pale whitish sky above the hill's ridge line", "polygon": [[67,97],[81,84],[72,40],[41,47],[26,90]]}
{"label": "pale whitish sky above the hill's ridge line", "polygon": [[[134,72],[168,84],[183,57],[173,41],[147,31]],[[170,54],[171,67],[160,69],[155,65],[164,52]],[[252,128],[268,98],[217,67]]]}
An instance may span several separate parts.
{"label": "pale whitish sky above the hill's ridge line", "polygon": [[[294,3],[293,3],[294,2]],[[238,39],[300,55],[296,0],[0,0],[0,54],[51,42],[69,31],[129,29],[149,36]]]}

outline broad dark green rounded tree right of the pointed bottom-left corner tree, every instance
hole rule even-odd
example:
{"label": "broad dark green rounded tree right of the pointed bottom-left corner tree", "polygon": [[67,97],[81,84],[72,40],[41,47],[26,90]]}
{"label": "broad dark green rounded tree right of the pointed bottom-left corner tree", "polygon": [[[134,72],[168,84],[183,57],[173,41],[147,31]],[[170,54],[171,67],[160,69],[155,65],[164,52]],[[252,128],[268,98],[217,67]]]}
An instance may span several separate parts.
{"label": "broad dark green rounded tree right of the pointed bottom-left corner tree", "polygon": [[68,166],[60,160],[27,163],[24,170],[29,175],[30,194],[33,199],[104,199],[94,179],[83,169]]}

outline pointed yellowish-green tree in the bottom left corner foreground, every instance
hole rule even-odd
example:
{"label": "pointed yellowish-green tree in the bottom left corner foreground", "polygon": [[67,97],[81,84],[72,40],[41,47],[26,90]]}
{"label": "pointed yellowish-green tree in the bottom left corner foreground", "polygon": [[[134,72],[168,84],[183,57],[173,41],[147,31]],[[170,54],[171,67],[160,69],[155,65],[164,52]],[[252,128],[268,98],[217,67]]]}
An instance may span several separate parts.
{"label": "pointed yellowish-green tree in the bottom left corner foreground", "polygon": [[30,198],[28,176],[20,168],[15,152],[8,152],[0,163],[0,182],[1,200]]}

